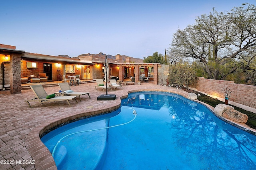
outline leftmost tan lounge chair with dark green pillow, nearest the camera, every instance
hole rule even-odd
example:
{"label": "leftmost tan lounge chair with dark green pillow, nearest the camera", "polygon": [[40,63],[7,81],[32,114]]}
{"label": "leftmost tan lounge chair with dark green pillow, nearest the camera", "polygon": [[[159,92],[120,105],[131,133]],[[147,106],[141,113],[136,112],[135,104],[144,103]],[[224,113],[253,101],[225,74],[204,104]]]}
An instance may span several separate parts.
{"label": "leftmost tan lounge chair with dark green pillow, nearest the camera", "polygon": [[[27,102],[28,104],[28,107],[32,107],[29,102],[46,103],[46,102],[58,102],[58,101],[67,101],[68,105],[71,107],[71,104],[69,101],[73,99],[76,100],[76,96],[56,96],[54,98],[48,98],[48,96],[51,96],[51,95],[48,95],[46,93],[46,91],[44,90],[41,84],[30,86],[30,88],[33,90],[36,97],[31,100],[25,100],[25,102]],[[76,103],[78,103],[77,100],[76,100]]]}

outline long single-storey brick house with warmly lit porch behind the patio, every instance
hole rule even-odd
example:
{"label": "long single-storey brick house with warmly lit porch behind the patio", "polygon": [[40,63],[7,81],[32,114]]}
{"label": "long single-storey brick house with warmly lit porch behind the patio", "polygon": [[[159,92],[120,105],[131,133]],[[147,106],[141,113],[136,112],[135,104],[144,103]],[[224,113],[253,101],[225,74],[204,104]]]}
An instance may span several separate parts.
{"label": "long single-storey brick house with warmly lit porch behind the patio", "polygon": [[[15,46],[0,44],[0,63],[0,90],[10,88],[10,92],[15,94],[21,93],[22,77],[38,78],[39,73],[45,73],[48,81],[61,81],[63,75],[76,74],[82,80],[104,78],[105,55],[80,55],[70,58],[28,53],[16,50]],[[134,63],[130,57],[126,57],[123,62],[120,54],[115,59],[108,59],[108,64],[110,78],[115,77],[120,81],[130,78],[137,83],[143,75],[158,84],[159,79],[162,79],[158,76],[158,70],[164,68],[168,72],[168,68],[159,63]],[[163,79],[166,82],[167,77]]]}

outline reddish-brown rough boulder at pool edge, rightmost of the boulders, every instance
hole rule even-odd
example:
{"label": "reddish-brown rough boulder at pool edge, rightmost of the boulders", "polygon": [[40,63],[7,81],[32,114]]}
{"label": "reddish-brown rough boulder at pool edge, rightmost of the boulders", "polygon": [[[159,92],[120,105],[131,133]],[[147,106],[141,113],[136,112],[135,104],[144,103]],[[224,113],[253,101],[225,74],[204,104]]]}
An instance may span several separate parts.
{"label": "reddish-brown rough boulder at pool edge, rightmost of the boulders", "polygon": [[237,111],[235,109],[228,109],[224,111],[222,116],[240,123],[246,123],[248,121],[248,116],[246,114],[241,113],[240,111]]}

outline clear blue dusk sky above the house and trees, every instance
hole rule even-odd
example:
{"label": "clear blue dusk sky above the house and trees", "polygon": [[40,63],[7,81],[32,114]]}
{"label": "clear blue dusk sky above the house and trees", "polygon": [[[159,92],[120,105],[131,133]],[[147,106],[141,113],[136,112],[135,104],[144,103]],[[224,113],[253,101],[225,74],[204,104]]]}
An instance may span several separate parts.
{"label": "clear blue dusk sky above the house and trees", "polygon": [[44,55],[165,53],[197,16],[256,0],[1,0],[0,44]]}

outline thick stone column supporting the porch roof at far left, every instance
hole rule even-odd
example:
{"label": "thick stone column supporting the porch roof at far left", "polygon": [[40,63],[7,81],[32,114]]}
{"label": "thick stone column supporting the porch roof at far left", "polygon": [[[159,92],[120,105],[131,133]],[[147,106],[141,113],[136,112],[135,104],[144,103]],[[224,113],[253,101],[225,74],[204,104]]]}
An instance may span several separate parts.
{"label": "thick stone column supporting the porch roof at far left", "polygon": [[21,54],[10,55],[10,92],[11,94],[21,93]]}

